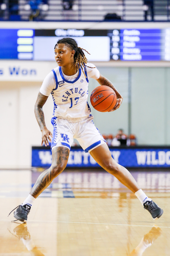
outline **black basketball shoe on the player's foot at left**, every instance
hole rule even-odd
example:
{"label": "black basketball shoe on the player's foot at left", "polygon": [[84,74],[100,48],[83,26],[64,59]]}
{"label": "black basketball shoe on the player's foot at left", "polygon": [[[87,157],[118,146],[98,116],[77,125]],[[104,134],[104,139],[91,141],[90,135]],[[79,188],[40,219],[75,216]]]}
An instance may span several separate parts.
{"label": "black basketball shoe on the player's foot at left", "polygon": [[[16,209],[17,208],[17,209]],[[24,204],[24,205],[18,205],[16,208],[14,208],[13,210],[15,210],[13,212],[13,216],[17,219],[20,220],[22,222],[26,222],[27,221],[27,215],[29,214],[29,211],[31,209],[31,206],[28,204]],[[12,211],[13,211],[12,210]],[[11,212],[12,212],[11,211]],[[10,212],[10,213],[11,213]],[[9,214],[10,214],[9,213]],[[8,215],[9,216],[9,215]]]}

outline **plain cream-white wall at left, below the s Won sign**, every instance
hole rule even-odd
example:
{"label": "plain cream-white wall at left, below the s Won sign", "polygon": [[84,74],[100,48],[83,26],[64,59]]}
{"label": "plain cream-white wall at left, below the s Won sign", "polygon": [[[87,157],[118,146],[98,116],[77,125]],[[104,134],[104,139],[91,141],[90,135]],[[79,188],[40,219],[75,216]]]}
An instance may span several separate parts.
{"label": "plain cream-white wall at left, below the s Won sign", "polygon": [[[31,166],[31,146],[40,145],[41,131],[34,116],[34,104],[41,82],[1,82],[0,84],[0,168]],[[50,118],[53,102],[44,106],[45,120]]]}

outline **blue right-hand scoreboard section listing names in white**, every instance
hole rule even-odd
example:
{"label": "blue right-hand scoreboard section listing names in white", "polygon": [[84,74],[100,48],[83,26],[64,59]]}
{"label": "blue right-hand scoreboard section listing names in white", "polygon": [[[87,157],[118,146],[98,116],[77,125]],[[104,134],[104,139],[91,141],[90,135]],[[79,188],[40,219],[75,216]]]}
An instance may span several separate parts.
{"label": "blue right-hand scoreboard section listing names in white", "polygon": [[170,28],[114,29],[108,34],[110,58],[114,60],[170,61]]}

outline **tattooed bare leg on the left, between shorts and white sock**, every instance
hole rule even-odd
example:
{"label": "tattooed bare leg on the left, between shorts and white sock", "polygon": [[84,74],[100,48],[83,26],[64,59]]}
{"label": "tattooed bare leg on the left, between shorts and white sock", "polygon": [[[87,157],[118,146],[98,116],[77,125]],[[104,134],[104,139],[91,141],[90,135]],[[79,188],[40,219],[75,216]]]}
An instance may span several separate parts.
{"label": "tattooed bare leg on the left, between shorts and white sock", "polygon": [[63,146],[55,147],[52,150],[52,164],[49,169],[43,171],[37,178],[30,191],[32,196],[37,197],[64,170],[68,161],[69,152],[70,150]]}

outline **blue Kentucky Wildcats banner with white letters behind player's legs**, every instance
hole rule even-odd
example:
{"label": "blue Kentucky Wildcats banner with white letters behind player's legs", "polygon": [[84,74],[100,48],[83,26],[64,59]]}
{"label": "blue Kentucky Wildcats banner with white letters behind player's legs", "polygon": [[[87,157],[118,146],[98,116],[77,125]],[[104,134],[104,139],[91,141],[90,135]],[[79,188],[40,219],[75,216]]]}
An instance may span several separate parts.
{"label": "blue Kentucky Wildcats banner with white letters behind player's legs", "polygon": [[[110,148],[112,157],[126,167],[170,167],[170,147],[126,147]],[[45,147],[32,147],[32,166],[50,166],[51,150]],[[99,167],[89,153],[81,148],[71,148],[68,167]]]}

